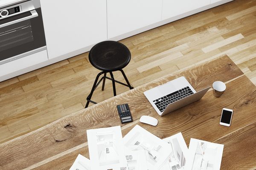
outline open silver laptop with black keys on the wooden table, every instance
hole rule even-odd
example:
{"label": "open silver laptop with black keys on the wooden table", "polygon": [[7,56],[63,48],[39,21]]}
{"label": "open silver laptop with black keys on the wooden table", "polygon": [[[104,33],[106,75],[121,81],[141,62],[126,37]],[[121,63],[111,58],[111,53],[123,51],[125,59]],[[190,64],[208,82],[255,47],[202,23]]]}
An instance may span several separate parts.
{"label": "open silver laptop with black keys on the wooden table", "polygon": [[196,92],[185,77],[144,92],[144,95],[160,116],[200,100],[210,87]]}

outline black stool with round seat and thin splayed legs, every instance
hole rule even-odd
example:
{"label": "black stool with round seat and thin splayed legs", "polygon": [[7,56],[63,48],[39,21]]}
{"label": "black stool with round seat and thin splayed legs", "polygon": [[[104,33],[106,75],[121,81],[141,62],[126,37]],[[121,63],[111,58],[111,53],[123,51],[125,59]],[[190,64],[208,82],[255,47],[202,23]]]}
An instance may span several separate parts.
{"label": "black stool with round seat and thin splayed legs", "polygon": [[[131,60],[131,52],[129,49],[120,42],[116,41],[103,41],[99,42],[98,44],[94,45],[93,48],[89,52],[89,60],[93,67],[101,70],[93,84],[93,88],[87,97],[87,103],[85,108],[88,107],[89,102],[96,104],[91,100],[93,96],[93,91],[98,87],[99,83],[103,80],[102,83],[102,91],[104,90],[105,86],[105,79],[110,79],[113,85],[113,93],[116,96],[116,85],[115,82],[120,83],[121,85],[125,85],[130,89],[133,87],[130,85],[127,77],[125,76],[125,72],[122,70]],[[113,71],[121,71],[125,81],[127,83],[124,84],[122,82],[116,81],[113,76]],[[111,78],[107,77],[107,73],[110,74]],[[104,76],[99,80],[99,77],[104,74]],[[99,82],[98,82],[99,80]]]}

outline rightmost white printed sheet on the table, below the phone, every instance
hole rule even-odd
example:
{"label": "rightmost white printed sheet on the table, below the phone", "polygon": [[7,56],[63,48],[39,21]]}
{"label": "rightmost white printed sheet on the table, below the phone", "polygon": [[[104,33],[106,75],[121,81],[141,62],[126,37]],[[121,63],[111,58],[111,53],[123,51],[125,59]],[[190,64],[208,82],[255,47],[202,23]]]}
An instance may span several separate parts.
{"label": "rightmost white printed sheet on the table, below the phone", "polygon": [[190,139],[187,170],[220,170],[223,144]]}

